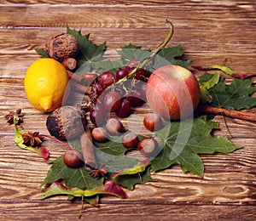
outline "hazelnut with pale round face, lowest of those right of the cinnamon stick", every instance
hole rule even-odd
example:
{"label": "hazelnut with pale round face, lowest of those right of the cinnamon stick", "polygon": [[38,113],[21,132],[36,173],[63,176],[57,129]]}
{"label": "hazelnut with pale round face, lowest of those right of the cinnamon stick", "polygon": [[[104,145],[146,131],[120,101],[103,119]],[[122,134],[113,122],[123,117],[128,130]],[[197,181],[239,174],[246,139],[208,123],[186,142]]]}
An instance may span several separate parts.
{"label": "hazelnut with pale round face, lowest of those right of the cinnamon stick", "polygon": [[143,156],[157,156],[159,153],[159,145],[154,138],[144,138],[137,144],[137,149]]}

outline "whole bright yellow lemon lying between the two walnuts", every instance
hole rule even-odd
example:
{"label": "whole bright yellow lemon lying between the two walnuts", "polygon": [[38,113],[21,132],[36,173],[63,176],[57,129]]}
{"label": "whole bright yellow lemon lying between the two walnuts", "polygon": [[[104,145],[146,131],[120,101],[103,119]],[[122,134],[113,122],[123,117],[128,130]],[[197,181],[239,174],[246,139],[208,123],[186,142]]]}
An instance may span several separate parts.
{"label": "whole bright yellow lemon lying between the two walnuts", "polygon": [[69,77],[55,59],[37,59],[29,66],[24,87],[29,102],[39,111],[54,111],[69,94]]}

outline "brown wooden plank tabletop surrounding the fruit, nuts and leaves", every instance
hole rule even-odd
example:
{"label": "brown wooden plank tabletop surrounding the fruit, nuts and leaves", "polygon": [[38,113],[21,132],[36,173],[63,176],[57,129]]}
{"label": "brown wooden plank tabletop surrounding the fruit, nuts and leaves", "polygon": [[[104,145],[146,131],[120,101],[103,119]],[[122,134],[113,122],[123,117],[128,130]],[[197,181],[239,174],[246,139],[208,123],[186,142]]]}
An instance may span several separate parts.
{"label": "brown wooden plank tabletop surrounding the fruit, nuts and leaves", "polygon": [[[0,220],[78,219],[80,202],[57,196],[40,201],[40,184],[49,169],[45,161],[14,143],[14,127],[4,115],[21,108],[26,130],[47,133],[47,114],[26,99],[23,78],[53,34],[66,26],[90,32],[96,44],[107,42],[109,58],[129,42],[156,48],[167,33],[168,46],[181,44],[193,65],[230,65],[236,71],[256,71],[255,0],[1,0],[0,4]],[[254,79],[255,82],[255,79]],[[250,110],[255,111],[255,108]],[[228,136],[224,118],[217,116]],[[202,156],[204,178],[172,167],[154,173],[157,182],[127,191],[128,200],[103,196],[100,208],[84,205],[86,220],[255,220],[256,124],[226,117],[231,141],[243,148],[227,155]],[[51,156],[60,156],[55,144]]]}

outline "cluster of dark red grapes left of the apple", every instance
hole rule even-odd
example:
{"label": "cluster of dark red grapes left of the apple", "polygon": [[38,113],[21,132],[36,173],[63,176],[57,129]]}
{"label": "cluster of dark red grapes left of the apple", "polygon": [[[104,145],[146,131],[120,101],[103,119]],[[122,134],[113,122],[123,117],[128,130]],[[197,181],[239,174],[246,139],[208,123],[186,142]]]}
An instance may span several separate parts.
{"label": "cluster of dark red grapes left of the apple", "polygon": [[145,101],[149,75],[143,68],[135,70],[131,64],[120,67],[115,74],[102,72],[91,83],[90,121],[99,127],[108,120],[110,112],[120,118],[130,116],[131,108],[143,105]]}

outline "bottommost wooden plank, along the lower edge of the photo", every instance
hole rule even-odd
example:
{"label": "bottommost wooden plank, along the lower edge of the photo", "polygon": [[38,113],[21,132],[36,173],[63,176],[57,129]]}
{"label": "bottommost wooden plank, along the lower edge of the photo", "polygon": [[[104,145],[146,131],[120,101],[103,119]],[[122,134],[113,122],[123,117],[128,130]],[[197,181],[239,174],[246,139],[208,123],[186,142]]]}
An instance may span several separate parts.
{"label": "bottommost wooden plank, along the lower edge of the photo", "polygon": [[[73,207],[65,201],[6,201],[1,205],[3,220],[79,220],[80,202]],[[103,204],[102,207],[84,206],[82,219],[91,220],[254,220],[253,206],[160,205],[139,202]]]}

